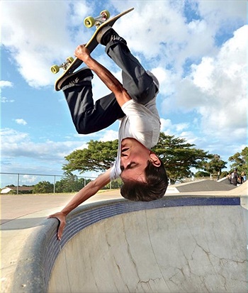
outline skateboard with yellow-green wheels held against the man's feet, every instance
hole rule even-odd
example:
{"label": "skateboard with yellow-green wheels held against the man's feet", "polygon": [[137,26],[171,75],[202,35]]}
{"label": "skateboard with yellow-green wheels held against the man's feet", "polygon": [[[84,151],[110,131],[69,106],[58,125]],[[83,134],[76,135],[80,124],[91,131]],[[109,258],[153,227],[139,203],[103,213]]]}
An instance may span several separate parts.
{"label": "skateboard with yellow-green wheels held against the man's feet", "polygon": [[[134,8],[128,9],[123,11],[122,13],[118,14],[117,16],[110,17],[110,13],[107,10],[101,11],[100,15],[96,18],[92,16],[88,16],[84,19],[84,26],[86,28],[91,28],[92,26],[96,26],[96,31],[94,35],[92,35],[91,39],[88,43],[86,43],[85,47],[89,49],[89,52],[92,52],[98,45],[98,41],[96,40],[96,35],[101,31],[102,28],[105,26],[113,26],[115,21],[117,21],[121,16],[133,11]],[[55,90],[58,92],[61,89],[62,79],[69,74],[72,74],[77,68],[83,63],[82,60],[78,59],[77,57],[74,59],[73,57],[67,57],[66,61],[61,65],[52,65],[51,71],[52,73],[56,74],[60,71],[60,68],[64,70],[62,75],[56,80],[55,82]]]}

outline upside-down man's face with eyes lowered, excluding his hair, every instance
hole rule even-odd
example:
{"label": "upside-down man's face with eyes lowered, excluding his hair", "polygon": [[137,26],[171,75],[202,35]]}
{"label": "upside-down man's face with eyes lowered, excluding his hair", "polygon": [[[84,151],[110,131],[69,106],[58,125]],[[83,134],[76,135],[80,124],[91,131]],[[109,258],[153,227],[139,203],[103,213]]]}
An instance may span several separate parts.
{"label": "upside-down man's face with eyes lowered, excluding his hair", "polygon": [[147,162],[152,160],[151,153],[135,138],[122,140],[120,155],[120,169],[122,172],[120,177],[123,182],[128,180],[146,182],[144,170],[147,167]]}

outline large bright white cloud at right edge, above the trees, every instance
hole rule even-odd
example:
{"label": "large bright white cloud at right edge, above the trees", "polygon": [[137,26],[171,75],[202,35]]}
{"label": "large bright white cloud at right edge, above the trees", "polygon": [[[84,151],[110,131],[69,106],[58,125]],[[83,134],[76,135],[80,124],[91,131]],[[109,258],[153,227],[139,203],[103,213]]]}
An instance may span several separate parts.
{"label": "large bright white cloud at right edge, above the trees", "polygon": [[[247,129],[248,26],[235,31],[215,57],[203,57],[191,73],[174,84],[163,102],[167,111],[196,111],[203,133],[225,143],[243,140]],[[232,133],[232,136],[230,136]]]}

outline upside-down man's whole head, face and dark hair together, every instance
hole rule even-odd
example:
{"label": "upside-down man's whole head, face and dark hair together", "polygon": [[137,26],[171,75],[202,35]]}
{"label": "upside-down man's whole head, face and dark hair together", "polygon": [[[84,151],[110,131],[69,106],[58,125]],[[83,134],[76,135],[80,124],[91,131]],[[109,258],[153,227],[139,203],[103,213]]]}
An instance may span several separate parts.
{"label": "upside-down man's whole head, face and dark hair together", "polygon": [[121,143],[120,169],[124,182],[120,193],[126,199],[151,201],[164,196],[168,178],[163,162],[134,138]]}

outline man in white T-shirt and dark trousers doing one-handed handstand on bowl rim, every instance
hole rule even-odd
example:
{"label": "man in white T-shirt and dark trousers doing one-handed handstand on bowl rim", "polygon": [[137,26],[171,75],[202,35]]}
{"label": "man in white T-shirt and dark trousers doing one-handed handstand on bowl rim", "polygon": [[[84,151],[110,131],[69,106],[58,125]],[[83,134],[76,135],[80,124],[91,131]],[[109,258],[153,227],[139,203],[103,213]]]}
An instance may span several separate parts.
{"label": "man in white T-shirt and dark trousers doing one-handed handstand on bowl rim", "polygon": [[[120,120],[118,155],[113,167],[89,182],[61,212],[50,216],[60,220],[59,239],[67,214],[96,194],[111,179],[121,177],[124,184],[120,193],[134,201],[162,198],[168,185],[164,165],[151,151],[157,144],[160,131],[156,108],[159,83],[151,72],[145,71],[131,54],[126,41],[113,28],[103,28],[97,39],[98,43],[106,46],[107,55],[122,70],[123,84],[94,60],[84,45],[79,45],[75,56],[87,67],[64,77],[62,91],[78,133],[100,131]],[[111,90],[111,94],[95,103],[91,92],[91,70]]]}

